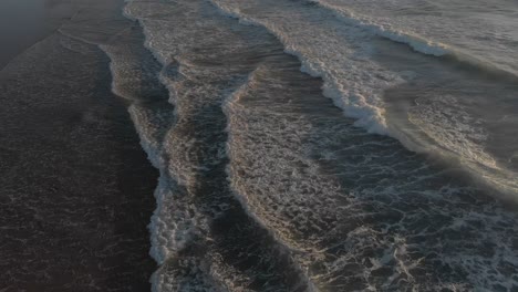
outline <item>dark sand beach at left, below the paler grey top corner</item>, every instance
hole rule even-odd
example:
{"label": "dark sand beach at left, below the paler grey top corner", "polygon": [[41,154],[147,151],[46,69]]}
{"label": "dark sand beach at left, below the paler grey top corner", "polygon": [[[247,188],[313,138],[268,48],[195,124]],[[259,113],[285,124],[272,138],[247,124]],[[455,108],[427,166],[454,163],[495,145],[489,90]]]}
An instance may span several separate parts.
{"label": "dark sand beach at left, below the paler grey top corner", "polygon": [[149,291],[158,174],[107,56],[43,38],[0,71],[0,291]]}

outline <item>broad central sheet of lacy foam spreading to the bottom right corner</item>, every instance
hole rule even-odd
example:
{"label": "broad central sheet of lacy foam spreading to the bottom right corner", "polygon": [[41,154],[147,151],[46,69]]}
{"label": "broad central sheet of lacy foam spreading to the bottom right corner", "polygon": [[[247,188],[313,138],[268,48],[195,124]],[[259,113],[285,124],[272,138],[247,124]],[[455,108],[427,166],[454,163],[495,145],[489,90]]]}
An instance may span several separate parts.
{"label": "broad central sheet of lacy foam spreading to the bottom right corner", "polygon": [[[480,265],[488,258],[506,264],[491,247],[509,249],[495,228],[512,216],[486,212],[490,205],[468,207],[462,197],[469,187],[449,185],[447,175],[393,139],[351,127],[329,103],[311,111],[321,96],[287,86],[291,79],[309,80],[300,81],[302,74],[284,69],[290,60],[281,60],[265,65],[253,86],[227,104],[230,180],[250,212],[298,251],[302,267],[319,267],[308,268],[318,288],[466,291],[515,283],[501,273],[477,277],[494,269]],[[469,251],[473,241],[477,251]],[[466,252],[476,254],[473,261],[465,261]],[[446,262],[468,272],[469,281],[443,273],[438,267]],[[441,273],[441,281],[425,273]]]}

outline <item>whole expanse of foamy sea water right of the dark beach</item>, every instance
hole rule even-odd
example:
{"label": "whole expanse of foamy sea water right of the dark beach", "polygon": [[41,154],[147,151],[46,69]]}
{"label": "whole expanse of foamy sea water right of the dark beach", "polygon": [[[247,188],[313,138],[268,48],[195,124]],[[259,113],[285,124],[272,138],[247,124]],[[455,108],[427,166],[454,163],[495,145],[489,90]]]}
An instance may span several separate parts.
{"label": "whole expanse of foamy sea water right of the dark beach", "polygon": [[[154,291],[518,291],[511,1],[133,0]],[[63,33],[66,33],[63,30]]]}

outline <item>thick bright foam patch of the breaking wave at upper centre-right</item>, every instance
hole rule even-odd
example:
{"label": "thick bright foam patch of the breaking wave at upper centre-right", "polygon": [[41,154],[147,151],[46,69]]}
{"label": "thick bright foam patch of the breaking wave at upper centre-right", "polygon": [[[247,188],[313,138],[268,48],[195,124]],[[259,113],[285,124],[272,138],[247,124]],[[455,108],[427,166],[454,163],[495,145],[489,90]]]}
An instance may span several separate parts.
{"label": "thick bright foam patch of the breaking wave at upper centre-right", "polygon": [[[239,6],[232,6],[228,1],[211,2],[227,15],[246,24],[265,27],[278,36],[284,44],[284,51],[300,59],[303,72],[324,80],[324,95],[332,98],[345,115],[358,118],[356,125],[370,133],[390,134],[381,95],[383,88],[397,84],[401,79],[367,61],[371,35],[358,28],[341,29],[340,25],[335,27],[336,31],[321,31],[322,28],[311,27],[311,22],[299,18],[253,18],[240,12]],[[263,3],[261,7],[267,6]],[[288,9],[297,8],[289,6]],[[307,17],[319,18],[318,14]],[[273,20],[280,20],[280,23]],[[355,42],[348,42],[349,39],[354,39]]]}

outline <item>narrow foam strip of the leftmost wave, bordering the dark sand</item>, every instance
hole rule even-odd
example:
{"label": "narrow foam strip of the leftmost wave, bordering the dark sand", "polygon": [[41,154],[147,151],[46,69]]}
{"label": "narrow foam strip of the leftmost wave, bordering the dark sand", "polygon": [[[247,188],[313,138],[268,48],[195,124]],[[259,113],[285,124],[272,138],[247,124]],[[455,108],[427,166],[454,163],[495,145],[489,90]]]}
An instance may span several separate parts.
{"label": "narrow foam strip of the leftmost wave, bordering the dark sand", "polygon": [[[214,206],[204,206],[204,202],[199,201],[199,198],[196,201],[195,191],[199,185],[205,184],[205,181],[198,182],[197,179],[199,178],[196,177],[210,171],[214,166],[217,166],[225,158],[225,153],[218,152],[217,155],[205,157],[204,152],[211,152],[211,148],[218,147],[218,144],[214,143],[214,140],[210,143],[215,145],[207,144],[204,140],[205,137],[199,135],[201,134],[200,131],[204,129],[193,127],[199,126],[203,123],[218,122],[217,112],[214,113],[216,116],[213,121],[210,112],[204,113],[200,109],[204,107],[219,107],[221,102],[225,104],[224,95],[228,96],[228,93],[232,92],[232,88],[237,84],[242,83],[244,76],[241,76],[241,72],[247,70],[246,63],[230,63],[229,67],[204,65],[203,61],[201,64],[197,64],[197,62],[200,62],[199,59],[203,59],[203,54],[190,54],[190,52],[204,48],[203,42],[207,42],[207,48],[210,46],[214,41],[213,38],[216,36],[230,38],[228,41],[234,41],[234,43],[229,49],[236,50],[236,55],[239,55],[242,51],[246,53],[245,49],[248,45],[253,46],[253,42],[244,43],[244,40],[239,35],[234,35],[228,31],[228,28],[222,27],[228,22],[225,18],[220,18],[220,22],[222,23],[218,23],[217,20],[211,20],[208,17],[197,23],[200,28],[193,28],[190,30],[184,28],[185,30],[179,30],[179,21],[172,20],[169,22],[167,19],[153,19],[153,17],[149,17],[154,15],[156,9],[163,11],[162,8],[165,11],[174,9],[185,9],[186,12],[203,11],[204,6],[200,3],[203,2],[183,2],[178,3],[178,6],[169,6],[160,2],[146,2],[139,6],[135,1],[130,2],[125,9],[127,15],[138,19],[144,27],[146,48],[154,53],[155,58],[164,66],[160,73],[160,81],[169,90],[169,101],[175,105],[175,116],[177,119],[177,123],[174,126],[169,126],[164,138],[157,144],[158,150],[151,150],[151,153],[154,153],[151,155],[152,159],[158,166],[162,174],[159,186],[155,192],[157,209],[151,225],[152,254],[158,263],[164,265],[167,265],[167,260],[177,258],[177,251],[188,248],[186,247],[187,242],[194,244],[204,242],[204,240],[208,242],[211,240],[206,238],[206,233],[209,230],[207,221],[214,218],[207,215],[207,212],[214,212],[213,216],[216,217],[219,213],[216,210],[210,210]],[[208,4],[205,4],[205,7],[213,9]],[[177,12],[182,13],[180,11]],[[214,13],[217,14],[216,11]],[[174,28],[174,30],[170,28]],[[215,36],[210,35],[201,40],[194,39],[191,34],[206,32],[204,28],[213,29]],[[260,40],[256,41],[260,42]],[[222,53],[225,58],[228,58],[226,50],[215,50],[214,52]],[[209,59],[209,61],[211,60]],[[221,85],[226,87],[221,88]],[[236,94],[231,94],[230,96],[235,96]],[[155,131],[154,124],[156,124],[156,121],[153,119],[156,118],[149,117],[149,114],[156,115],[156,113],[147,113],[145,107],[138,108],[138,106],[132,106],[132,116],[137,127],[143,128],[139,133],[143,145],[148,150],[149,148],[156,148],[154,140],[156,140],[157,136],[153,133]],[[199,114],[204,116],[198,116]],[[219,184],[226,182],[220,181]],[[221,194],[221,196],[220,200],[224,201],[219,204],[219,207],[225,210],[228,206],[225,202],[225,194]],[[215,198],[214,200],[217,199]],[[196,234],[198,239],[193,240],[191,234]],[[268,246],[263,248],[268,248]],[[276,252],[273,250],[266,251],[263,252],[263,257],[266,259],[269,253]],[[286,252],[283,253],[286,254]],[[211,257],[221,255],[215,254]],[[272,259],[272,261],[274,262],[277,259]],[[214,259],[214,262],[210,262],[210,267],[209,271],[200,273],[211,274],[229,288],[236,286],[238,289],[239,285],[242,285],[241,282],[246,283],[247,277],[249,277],[247,275],[248,273],[242,274],[239,270],[232,270],[232,267],[220,265],[216,259]],[[297,270],[297,267],[290,267],[289,269]],[[177,285],[178,281],[183,281],[182,277],[180,279],[170,279],[174,277],[170,273],[172,271],[167,271],[165,268],[158,270],[153,278],[154,288],[167,291],[168,288]],[[302,282],[307,282],[307,280]]]}

